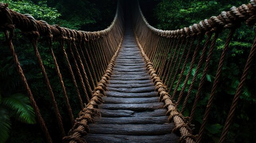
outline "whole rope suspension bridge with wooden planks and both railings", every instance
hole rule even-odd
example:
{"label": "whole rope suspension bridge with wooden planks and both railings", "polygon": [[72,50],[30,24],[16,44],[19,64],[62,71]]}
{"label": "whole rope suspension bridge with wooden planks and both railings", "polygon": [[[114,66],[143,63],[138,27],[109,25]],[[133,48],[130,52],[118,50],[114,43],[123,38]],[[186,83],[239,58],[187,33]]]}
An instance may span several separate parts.
{"label": "whole rope suspension bridge with wooden planks and both railings", "polygon": [[[131,2],[132,6],[129,6],[131,9],[123,9],[124,4],[118,2],[115,18],[107,29],[85,32],[37,21],[29,14],[17,13],[8,9],[8,4],[0,3],[1,31],[6,36],[18,74],[48,143],[53,141],[46,127],[47,123],[39,112],[12,44],[15,29],[20,29],[33,46],[63,141],[70,143],[86,141],[199,143],[219,87],[225,56],[235,30],[240,27],[241,22],[245,21],[249,26],[256,23],[256,1],[254,0],[238,8],[232,7],[229,12],[222,12],[218,16],[205,19],[190,27],[173,31],[162,31],[150,26],[138,2]],[[211,62],[216,60],[212,57],[216,52],[215,43],[224,29],[228,29],[229,34],[219,64],[211,67]],[[39,40],[48,43],[63,90],[72,124],[72,129],[67,134],[37,49]],[[58,62],[63,61],[57,61],[55,58],[55,51],[51,47],[53,41],[59,42],[76,89],[81,108],[76,119],[74,119],[61,69],[58,66]],[[244,70],[219,140],[221,143],[225,142],[255,50],[254,41],[246,57],[246,63],[243,63]],[[196,64],[197,67],[192,74]],[[186,73],[188,65],[189,70]],[[210,96],[203,122],[198,135],[195,135],[197,133],[192,133],[194,127],[191,123],[200,96],[205,95],[202,91],[206,86],[207,72],[211,68],[216,68],[217,72],[213,85],[209,89]],[[200,71],[201,75],[199,75]],[[190,79],[192,81],[188,83]],[[197,79],[200,79],[199,84],[196,83]],[[191,114],[189,117],[184,117],[183,113],[188,108],[188,100],[192,98],[192,89],[195,87],[197,91],[193,97]],[[179,107],[181,107],[180,110],[178,110]]]}

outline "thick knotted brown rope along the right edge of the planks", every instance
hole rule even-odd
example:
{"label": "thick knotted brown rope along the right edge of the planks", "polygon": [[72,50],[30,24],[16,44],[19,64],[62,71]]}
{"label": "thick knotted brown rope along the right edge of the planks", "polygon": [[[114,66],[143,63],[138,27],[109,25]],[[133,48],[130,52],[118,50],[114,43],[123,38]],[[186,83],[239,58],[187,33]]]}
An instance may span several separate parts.
{"label": "thick knotted brown rope along the right edge of the planks", "polygon": [[[186,141],[186,143],[195,143],[194,138],[191,138],[192,131],[188,126],[186,125],[186,120],[184,120],[184,116],[178,112],[178,110],[175,108],[175,104],[170,99],[170,96],[166,92],[166,87],[164,87],[164,84],[156,74],[154,68],[152,67],[152,64],[145,54],[141,44],[139,43],[139,39],[135,33],[135,39],[137,42],[137,45],[139,46],[139,50],[141,52],[141,56],[144,58],[147,70],[149,70],[149,74],[152,76],[152,79],[154,81],[154,85],[156,86],[156,90],[158,91],[158,94],[160,95],[160,99],[165,102],[165,107],[168,108],[168,112],[166,114],[170,114],[169,121],[173,120],[175,126],[179,126],[181,138]],[[184,125],[184,126],[183,126]],[[186,137],[185,137],[186,136]]]}

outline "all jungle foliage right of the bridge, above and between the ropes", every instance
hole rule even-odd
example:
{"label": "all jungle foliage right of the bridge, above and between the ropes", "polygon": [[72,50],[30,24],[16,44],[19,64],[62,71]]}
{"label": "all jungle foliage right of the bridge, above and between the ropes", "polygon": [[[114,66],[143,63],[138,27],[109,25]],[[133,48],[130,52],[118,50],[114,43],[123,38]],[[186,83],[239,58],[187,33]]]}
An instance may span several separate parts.
{"label": "all jungle foliage right of the bridge, above and between the ropes", "polygon": [[[157,19],[157,23],[152,22],[154,23],[152,26],[163,30],[175,30],[188,27],[193,25],[193,23],[198,23],[203,19],[209,19],[211,16],[217,16],[221,14],[222,11],[229,11],[232,6],[240,6],[242,4],[248,4],[248,2],[249,0],[160,0],[158,5],[154,8],[154,16]],[[219,142],[219,137],[221,135],[223,125],[225,124],[227,114],[229,112],[233,97],[236,93],[242,72],[244,70],[246,60],[248,58],[248,54],[254,41],[254,28],[255,27],[248,27],[242,23],[241,27],[236,29],[236,32],[233,35],[225,57],[221,77],[218,82],[215,99],[211,108],[211,113],[209,114],[209,120],[204,132],[202,142]],[[194,121],[192,122],[192,124],[195,124],[196,127],[195,133],[198,133],[199,127],[201,126],[203,115],[205,113],[205,107],[207,106],[210,91],[217,72],[216,70],[219,64],[221,52],[224,48],[228,34],[229,30],[224,30],[216,41],[216,47],[213,52],[214,54],[212,55],[210,68],[207,72],[205,83],[200,94],[200,99],[197,103]],[[202,43],[204,42],[205,41]],[[203,44],[200,44],[200,48],[203,48]],[[190,57],[189,61],[191,61],[191,58],[192,57]],[[188,73],[189,66],[190,64],[187,64],[183,75],[183,81]],[[186,92],[188,92],[188,87],[192,82],[192,77],[196,66],[197,64],[195,64],[193,67],[184,96],[186,96]],[[197,87],[201,80],[203,67],[204,65],[200,69],[198,77],[195,81],[190,99],[188,100],[188,106],[184,111],[184,116],[190,116],[195,94],[197,93]],[[251,113],[255,112],[255,110],[252,108],[255,108],[256,106],[256,97],[254,94],[256,92],[254,87],[256,77],[253,74],[255,70],[255,64],[253,64],[248,74],[246,84],[242,89],[242,95],[240,96],[240,100],[238,102],[237,110],[235,113],[236,117],[233,120],[227,135],[226,141],[229,143],[255,142],[255,138],[250,136],[251,134],[256,133],[255,129],[252,128],[252,126],[256,126],[256,117]],[[178,93],[182,86],[183,84],[181,83],[178,87]],[[172,89],[174,88],[175,84]],[[181,109],[181,106],[178,108]]]}

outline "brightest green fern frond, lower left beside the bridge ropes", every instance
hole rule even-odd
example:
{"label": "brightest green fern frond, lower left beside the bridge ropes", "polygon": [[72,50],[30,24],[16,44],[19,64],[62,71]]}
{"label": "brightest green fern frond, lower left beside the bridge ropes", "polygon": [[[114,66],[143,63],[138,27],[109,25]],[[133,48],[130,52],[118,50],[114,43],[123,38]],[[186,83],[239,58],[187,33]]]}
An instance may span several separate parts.
{"label": "brightest green fern frond, lower left beside the bridge ropes", "polygon": [[35,124],[35,112],[30,106],[28,97],[23,94],[14,94],[2,101],[3,106],[10,109],[11,116],[27,124]]}

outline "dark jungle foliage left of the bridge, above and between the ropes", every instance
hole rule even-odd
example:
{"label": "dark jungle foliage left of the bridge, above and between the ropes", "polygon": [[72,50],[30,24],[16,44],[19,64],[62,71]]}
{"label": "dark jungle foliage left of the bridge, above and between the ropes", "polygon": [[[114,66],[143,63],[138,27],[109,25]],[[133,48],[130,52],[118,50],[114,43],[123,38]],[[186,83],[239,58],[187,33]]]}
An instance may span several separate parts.
{"label": "dark jungle foliage left of the bridge, above and between the ropes", "polygon": [[[37,20],[44,20],[49,24],[58,24],[69,29],[84,31],[98,31],[110,25],[116,10],[114,0],[3,0],[8,3],[9,8],[21,14],[31,14]],[[41,37],[40,37],[41,38]],[[49,132],[54,142],[61,141],[57,130],[57,120],[51,103],[51,97],[45,85],[41,69],[34,56],[33,47],[19,29],[15,29],[15,36],[12,39],[15,51],[21,64],[21,68],[27,79],[27,83],[34,95],[40,113],[43,116]],[[0,138],[8,143],[42,143],[44,135],[35,123],[33,109],[29,105],[26,92],[19,75],[16,72],[11,53],[6,46],[5,36],[0,33],[0,95],[2,95],[0,105]],[[43,65],[47,71],[55,100],[57,101],[65,129],[70,129],[70,121],[66,112],[66,102],[63,98],[62,88],[59,84],[53,58],[49,52],[49,45],[39,41],[37,45],[42,58]],[[63,52],[59,47],[59,42],[54,42],[54,49],[59,68],[63,76],[67,95],[72,107],[74,117],[80,112],[76,90],[70,77],[70,73],[63,58]],[[67,54],[70,53],[66,50]],[[73,62],[70,60],[70,62]],[[80,88],[80,85],[78,85]],[[82,90],[81,90],[82,91]],[[83,96],[83,95],[82,95]],[[84,96],[83,96],[84,97]],[[4,104],[2,104],[5,102]],[[1,107],[4,108],[1,108]],[[8,110],[6,110],[8,108]],[[11,113],[13,114],[11,114]],[[3,115],[3,116],[2,116]],[[30,116],[27,116],[30,115]],[[5,121],[5,122],[2,122]],[[2,124],[3,123],[3,124]],[[27,124],[29,123],[29,124]]]}

